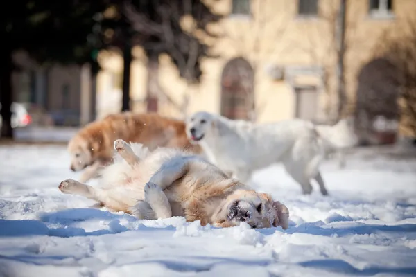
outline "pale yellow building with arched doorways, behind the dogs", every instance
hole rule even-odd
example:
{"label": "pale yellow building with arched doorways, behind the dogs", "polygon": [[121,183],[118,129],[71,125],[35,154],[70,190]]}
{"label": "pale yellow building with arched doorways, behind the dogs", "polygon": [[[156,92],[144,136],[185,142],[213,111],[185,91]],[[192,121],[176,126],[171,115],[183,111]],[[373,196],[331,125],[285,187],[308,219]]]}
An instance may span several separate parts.
{"label": "pale yellow building with arched doorways, behind the dogs", "polygon": [[[205,110],[259,123],[288,118],[333,122],[339,101],[339,0],[206,2],[224,15],[219,24],[211,26],[220,35],[220,39],[211,43],[218,58],[202,62],[202,81],[199,86],[189,88],[170,59],[161,55],[159,85],[169,100],[159,98],[160,114],[183,116]],[[365,114],[357,114],[356,107],[359,99],[369,98],[367,94],[373,91],[376,96],[390,95],[380,100],[381,106],[388,102],[390,109],[397,109],[395,101],[391,101],[392,95],[397,97],[397,86],[384,82],[392,69],[388,62],[383,64],[378,50],[386,33],[406,32],[406,24],[416,17],[416,1],[347,0],[346,3],[343,115],[361,118],[358,119],[361,125],[366,120],[364,129],[374,127],[376,120],[388,123],[398,120],[397,114],[389,116],[388,112],[381,112],[381,117],[366,118]],[[146,111],[146,57],[140,48],[135,49],[133,56],[133,107]],[[98,98],[121,102],[117,80],[121,78],[122,64],[117,53],[101,54],[103,71],[97,79]],[[107,109],[110,111],[107,106],[97,107],[101,116]],[[184,106],[186,113],[181,109]],[[393,127],[392,132],[397,132],[397,128]]]}

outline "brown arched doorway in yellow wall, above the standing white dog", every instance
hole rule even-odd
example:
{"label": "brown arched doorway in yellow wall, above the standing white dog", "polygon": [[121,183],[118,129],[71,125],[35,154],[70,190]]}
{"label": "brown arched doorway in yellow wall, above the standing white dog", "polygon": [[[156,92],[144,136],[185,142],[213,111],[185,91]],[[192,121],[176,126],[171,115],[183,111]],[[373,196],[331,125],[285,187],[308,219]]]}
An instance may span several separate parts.
{"label": "brown arched doorway in yellow wall, above the standing white dog", "polygon": [[250,120],[254,111],[254,72],[242,57],[225,64],[221,76],[221,115]]}

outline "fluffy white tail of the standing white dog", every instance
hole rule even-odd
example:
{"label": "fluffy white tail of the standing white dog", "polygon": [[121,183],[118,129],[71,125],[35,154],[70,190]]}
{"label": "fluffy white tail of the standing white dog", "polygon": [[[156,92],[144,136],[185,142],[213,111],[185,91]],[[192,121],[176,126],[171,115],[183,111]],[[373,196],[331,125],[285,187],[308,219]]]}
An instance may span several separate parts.
{"label": "fluffy white tail of the standing white dog", "polygon": [[315,125],[315,129],[327,148],[350,148],[356,145],[358,139],[349,121],[343,118],[336,125]]}

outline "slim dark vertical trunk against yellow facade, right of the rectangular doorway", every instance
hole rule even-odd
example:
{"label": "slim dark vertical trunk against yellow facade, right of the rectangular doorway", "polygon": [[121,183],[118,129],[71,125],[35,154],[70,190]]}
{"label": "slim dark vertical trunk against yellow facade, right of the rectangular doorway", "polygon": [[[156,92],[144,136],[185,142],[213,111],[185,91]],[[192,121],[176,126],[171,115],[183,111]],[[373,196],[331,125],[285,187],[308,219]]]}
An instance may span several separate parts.
{"label": "slim dark vertical trunk against yellow facade, right of the rectangular doorway", "polygon": [[338,109],[336,114],[337,121],[343,116],[346,105],[345,96],[345,73],[344,73],[344,57],[345,57],[345,15],[347,12],[347,0],[340,0],[340,10],[338,12],[336,26],[336,43],[338,48],[338,63],[336,69],[337,75],[337,94]]}

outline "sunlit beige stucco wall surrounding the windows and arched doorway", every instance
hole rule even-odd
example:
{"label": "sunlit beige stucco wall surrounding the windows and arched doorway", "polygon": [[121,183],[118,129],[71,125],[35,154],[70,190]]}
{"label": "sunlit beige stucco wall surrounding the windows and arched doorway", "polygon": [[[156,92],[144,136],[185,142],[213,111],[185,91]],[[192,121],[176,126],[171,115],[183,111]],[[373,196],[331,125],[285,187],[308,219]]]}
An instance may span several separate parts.
{"label": "sunlit beige stucco wall surrounding the windows and arched doorway", "polygon": [[[295,116],[293,87],[287,80],[272,80],[266,73],[266,69],[272,65],[322,66],[326,69],[328,81],[319,94],[318,119],[333,116],[338,99],[335,86],[336,46],[331,39],[331,15],[336,11],[339,1],[320,0],[320,16],[313,18],[298,16],[297,1],[294,0],[252,0],[252,17],[229,15],[231,0],[205,2],[211,5],[214,11],[226,15],[219,24],[211,26],[211,30],[222,35],[212,44],[213,53],[220,57],[202,62],[203,75],[200,86],[188,90],[188,113],[199,110],[219,113],[223,67],[234,57],[244,57],[255,69],[254,93],[256,105],[259,107],[259,122]],[[356,76],[361,66],[374,57],[374,48],[384,30],[400,26],[406,18],[416,15],[416,1],[395,0],[395,17],[392,19],[370,17],[367,1],[350,0],[348,3],[345,81],[348,100],[353,106]],[[397,28],[397,32],[401,31],[402,28]],[[132,64],[131,96],[133,99],[143,99],[146,91],[146,58],[142,56],[139,48],[135,53],[141,54],[136,55],[137,60]],[[159,82],[162,88],[175,102],[182,103],[187,85],[179,78],[177,69],[168,57],[161,56],[159,60]],[[98,93],[105,91],[105,84],[108,84],[105,74],[108,71],[121,70],[121,56],[103,59],[102,64],[108,66],[104,66],[105,69],[98,76]],[[319,81],[320,78],[315,76],[304,81],[304,84],[315,84]],[[139,111],[145,110],[143,105],[136,104],[134,107]],[[163,102],[159,104],[159,111],[169,116],[181,115],[173,105]]]}

